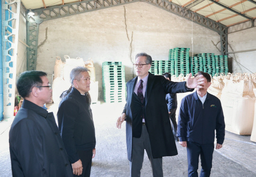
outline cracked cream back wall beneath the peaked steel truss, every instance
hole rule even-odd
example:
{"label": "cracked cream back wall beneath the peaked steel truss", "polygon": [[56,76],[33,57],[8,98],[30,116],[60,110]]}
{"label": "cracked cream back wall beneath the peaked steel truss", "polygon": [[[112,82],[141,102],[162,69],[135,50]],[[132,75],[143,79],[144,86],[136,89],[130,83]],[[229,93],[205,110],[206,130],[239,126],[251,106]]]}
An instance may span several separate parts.
{"label": "cracked cream back wall beneath the peaked steel truss", "polygon": [[[168,60],[169,49],[189,47],[192,56],[191,38],[192,21],[145,2],[57,18],[39,26],[37,70],[46,71],[51,80],[56,56],[91,58],[102,98],[102,62],[121,61],[128,81],[137,53]],[[219,41],[218,33],[193,23],[194,54],[220,54]]]}

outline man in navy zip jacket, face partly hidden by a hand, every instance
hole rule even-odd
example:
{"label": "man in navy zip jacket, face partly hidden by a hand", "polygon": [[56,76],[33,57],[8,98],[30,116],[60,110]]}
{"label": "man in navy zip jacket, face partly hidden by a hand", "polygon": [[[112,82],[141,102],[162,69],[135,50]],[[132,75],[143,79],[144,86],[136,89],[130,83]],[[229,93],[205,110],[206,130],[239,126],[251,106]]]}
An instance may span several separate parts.
{"label": "man in navy zip jacket, face partly hidden by a hand", "polygon": [[207,83],[182,99],[177,137],[179,143],[187,148],[188,176],[198,177],[200,155],[200,177],[210,177],[215,130],[216,149],[220,149],[224,142],[225,122],[220,100],[207,92],[211,84],[210,74],[199,71],[197,75],[203,75]]}

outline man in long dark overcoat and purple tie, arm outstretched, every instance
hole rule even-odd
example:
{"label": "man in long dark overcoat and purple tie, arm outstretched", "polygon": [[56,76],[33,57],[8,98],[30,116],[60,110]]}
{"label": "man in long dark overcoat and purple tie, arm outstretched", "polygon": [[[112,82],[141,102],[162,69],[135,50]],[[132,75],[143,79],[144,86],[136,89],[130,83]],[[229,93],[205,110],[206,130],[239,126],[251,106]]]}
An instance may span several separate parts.
{"label": "man in long dark overcoat and purple tie, arm outstretched", "polygon": [[165,96],[201,88],[206,79],[198,76],[187,81],[172,82],[149,71],[152,58],[146,53],[136,55],[137,77],[127,82],[127,102],[117,127],[126,120],[126,142],[130,177],[140,177],[144,150],[153,170],[153,177],[163,177],[162,157],[177,155]]}

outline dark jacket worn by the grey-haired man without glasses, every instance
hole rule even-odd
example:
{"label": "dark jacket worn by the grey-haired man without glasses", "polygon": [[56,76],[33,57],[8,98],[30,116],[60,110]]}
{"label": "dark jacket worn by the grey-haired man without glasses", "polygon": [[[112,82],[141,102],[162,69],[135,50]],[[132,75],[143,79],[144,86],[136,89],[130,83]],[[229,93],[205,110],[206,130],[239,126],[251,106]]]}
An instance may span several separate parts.
{"label": "dark jacket worn by the grey-haired man without glasses", "polygon": [[91,108],[85,95],[72,88],[60,102],[59,130],[71,163],[80,159],[78,150],[93,150],[96,144]]}

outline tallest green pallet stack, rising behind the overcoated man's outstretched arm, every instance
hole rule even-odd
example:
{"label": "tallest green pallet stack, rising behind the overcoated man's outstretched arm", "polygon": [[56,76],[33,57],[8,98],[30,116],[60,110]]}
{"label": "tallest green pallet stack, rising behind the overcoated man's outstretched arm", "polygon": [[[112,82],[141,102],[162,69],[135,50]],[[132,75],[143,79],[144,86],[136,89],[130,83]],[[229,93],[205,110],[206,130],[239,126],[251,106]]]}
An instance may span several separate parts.
{"label": "tallest green pallet stack, rising behind the overcoated man's outstretched arm", "polygon": [[169,50],[169,60],[173,61],[174,74],[177,77],[180,74],[187,75],[190,73],[189,51],[190,51],[190,48],[179,48],[179,47]]}

